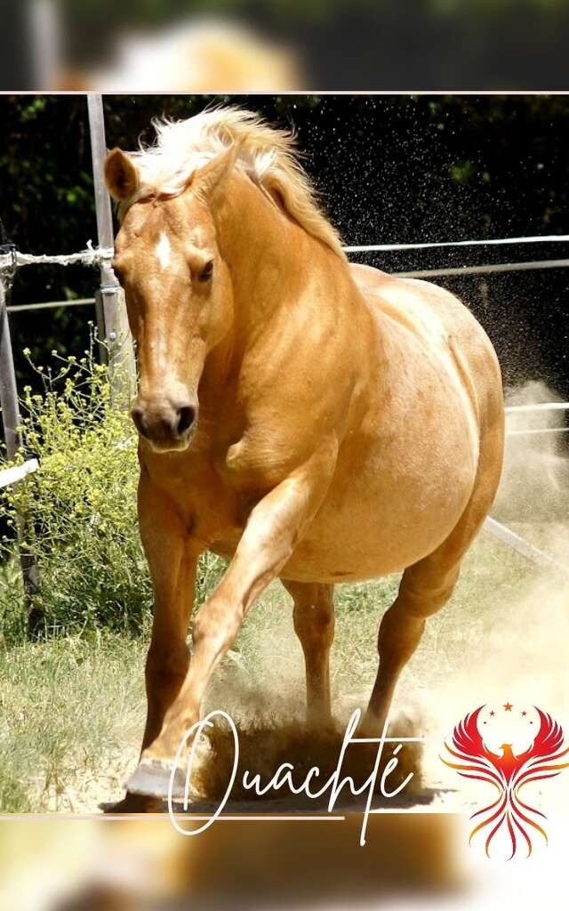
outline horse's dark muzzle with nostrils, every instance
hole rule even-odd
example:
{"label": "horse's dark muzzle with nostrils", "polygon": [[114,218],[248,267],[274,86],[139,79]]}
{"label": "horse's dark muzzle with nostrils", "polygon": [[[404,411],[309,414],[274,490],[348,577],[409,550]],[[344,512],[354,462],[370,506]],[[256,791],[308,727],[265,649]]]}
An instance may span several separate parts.
{"label": "horse's dark muzzle with nostrils", "polygon": [[198,405],[190,402],[138,401],[131,412],[137,431],[158,452],[186,449],[198,423]]}

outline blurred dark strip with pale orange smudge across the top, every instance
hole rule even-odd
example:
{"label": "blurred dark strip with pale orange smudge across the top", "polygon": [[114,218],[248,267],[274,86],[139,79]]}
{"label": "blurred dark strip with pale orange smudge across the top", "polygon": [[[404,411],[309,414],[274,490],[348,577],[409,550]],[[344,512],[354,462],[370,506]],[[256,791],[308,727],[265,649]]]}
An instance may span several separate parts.
{"label": "blurred dark strip with pale orange smudge across the top", "polygon": [[1,0],[0,88],[564,89],[567,0]]}

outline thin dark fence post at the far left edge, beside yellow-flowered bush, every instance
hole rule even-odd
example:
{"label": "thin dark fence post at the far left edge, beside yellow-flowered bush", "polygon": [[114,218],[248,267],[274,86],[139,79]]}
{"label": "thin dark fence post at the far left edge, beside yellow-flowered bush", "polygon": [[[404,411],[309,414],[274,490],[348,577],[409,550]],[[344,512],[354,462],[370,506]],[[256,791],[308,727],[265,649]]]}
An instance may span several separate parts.
{"label": "thin dark fence post at the far left edge, beside yellow-flowered bush", "polygon": [[[18,405],[15,383],[14,353],[10,339],[10,326],[6,311],[6,283],[0,273],[0,406],[4,424],[5,445],[8,458],[12,459],[22,446],[20,426],[22,418]],[[39,573],[36,558],[24,547],[26,528],[25,516],[16,517],[20,547],[20,566],[24,578],[24,604],[27,613],[28,630],[36,635],[43,621],[43,612],[38,605]]]}

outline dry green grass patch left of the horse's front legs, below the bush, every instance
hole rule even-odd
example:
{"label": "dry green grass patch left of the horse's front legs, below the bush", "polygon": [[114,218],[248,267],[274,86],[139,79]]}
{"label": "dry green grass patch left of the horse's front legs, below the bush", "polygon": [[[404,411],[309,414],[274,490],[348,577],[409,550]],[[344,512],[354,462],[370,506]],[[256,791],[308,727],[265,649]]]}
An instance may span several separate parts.
{"label": "dry green grass patch left of the horse's front legs, below the bush", "polygon": [[146,646],[111,634],[0,651],[0,806],[94,811],[118,796],[144,720]]}

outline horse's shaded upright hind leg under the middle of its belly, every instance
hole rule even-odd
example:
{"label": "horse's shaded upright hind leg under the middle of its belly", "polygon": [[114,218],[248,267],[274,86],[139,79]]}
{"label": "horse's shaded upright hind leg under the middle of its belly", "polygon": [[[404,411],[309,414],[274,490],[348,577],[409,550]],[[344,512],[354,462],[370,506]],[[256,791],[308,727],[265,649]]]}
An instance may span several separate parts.
{"label": "horse's shaded upright hind leg under the middle of its belly", "polygon": [[294,630],[306,665],[306,719],[330,722],[330,647],[334,639],[334,587],[282,581],[294,599]]}

